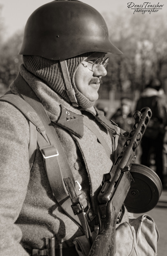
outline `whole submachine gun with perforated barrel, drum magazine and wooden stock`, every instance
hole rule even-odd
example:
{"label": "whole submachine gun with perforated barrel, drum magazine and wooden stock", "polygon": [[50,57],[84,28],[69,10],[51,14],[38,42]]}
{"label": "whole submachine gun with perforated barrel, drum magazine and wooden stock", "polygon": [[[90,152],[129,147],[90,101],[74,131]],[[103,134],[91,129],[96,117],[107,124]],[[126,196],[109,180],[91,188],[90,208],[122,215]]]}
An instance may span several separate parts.
{"label": "whole submachine gun with perforated barrel, drum magazine and wooden stock", "polygon": [[98,195],[99,234],[89,256],[115,255],[115,228],[123,203],[128,212],[144,213],[153,209],[159,200],[162,184],[158,175],[144,165],[135,164],[135,151],[151,116],[148,107],[134,112],[135,122],[122,151],[111,171],[103,175]]}

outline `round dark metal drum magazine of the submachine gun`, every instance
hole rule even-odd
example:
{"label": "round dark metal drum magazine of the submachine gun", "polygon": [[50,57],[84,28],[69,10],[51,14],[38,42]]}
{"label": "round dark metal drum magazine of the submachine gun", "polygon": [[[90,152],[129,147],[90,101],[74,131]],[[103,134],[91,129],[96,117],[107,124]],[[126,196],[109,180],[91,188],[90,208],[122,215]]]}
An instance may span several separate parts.
{"label": "round dark metal drum magazine of the submachine gun", "polygon": [[158,175],[142,164],[132,164],[130,170],[134,182],[124,200],[128,212],[145,213],[152,210],[162,193],[162,183]]}

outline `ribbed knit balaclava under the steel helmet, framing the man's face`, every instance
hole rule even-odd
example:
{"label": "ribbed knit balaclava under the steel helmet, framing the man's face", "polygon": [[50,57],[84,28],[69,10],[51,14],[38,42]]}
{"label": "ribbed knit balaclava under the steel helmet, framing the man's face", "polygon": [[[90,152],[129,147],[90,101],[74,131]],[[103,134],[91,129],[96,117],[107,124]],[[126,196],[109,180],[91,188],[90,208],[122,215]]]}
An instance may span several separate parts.
{"label": "ribbed knit balaclava under the steel helmet, framing the man's face", "polygon": [[[74,76],[79,64],[92,53],[93,52],[84,53],[66,60],[71,84],[76,93],[76,99],[79,106],[85,109],[93,106],[94,102],[88,100],[81,92],[78,91],[74,82]],[[52,88],[53,91],[57,92],[61,98],[70,103],[59,60],[49,60],[36,55],[23,55],[23,63],[29,72],[44,81],[44,83]]]}

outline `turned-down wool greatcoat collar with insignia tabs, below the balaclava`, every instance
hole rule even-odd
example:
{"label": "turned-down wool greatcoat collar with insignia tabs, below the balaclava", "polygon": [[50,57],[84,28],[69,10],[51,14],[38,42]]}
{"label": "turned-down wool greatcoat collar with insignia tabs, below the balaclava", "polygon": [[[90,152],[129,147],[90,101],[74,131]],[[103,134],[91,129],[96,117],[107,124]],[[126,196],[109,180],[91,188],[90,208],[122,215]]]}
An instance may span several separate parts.
{"label": "turned-down wool greatcoat collar with insignia tabs, below the balaclava", "polygon": [[52,122],[58,124],[69,132],[74,133],[79,138],[82,138],[83,115],[85,113],[84,111],[87,111],[91,113],[91,115],[93,115],[97,121],[106,129],[109,129],[115,133],[115,126],[111,124],[109,120],[107,120],[102,111],[99,111],[94,106],[86,110],[73,107],[66,100],[62,99],[43,81],[28,72],[28,70],[23,65],[20,67],[20,74],[29,84],[31,89],[35,92]]}

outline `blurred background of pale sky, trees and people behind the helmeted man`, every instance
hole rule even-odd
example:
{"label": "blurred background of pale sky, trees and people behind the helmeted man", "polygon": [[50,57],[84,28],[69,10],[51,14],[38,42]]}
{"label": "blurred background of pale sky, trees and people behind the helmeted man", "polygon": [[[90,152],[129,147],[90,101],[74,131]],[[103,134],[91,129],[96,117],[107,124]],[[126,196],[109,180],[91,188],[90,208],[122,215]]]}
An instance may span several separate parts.
{"label": "blurred background of pale sky, trees and people behind the helmeted man", "polygon": [[[141,0],[132,1],[138,5],[144,2]],[[18,55],[18,52],[28,17],[36,8],[48,2],[51,1],[0,0],[0,96],[8,90],[19,73],[22,56]],[[167,102],[166,0],[159,1],[159,5],[163,6],[157,12],[144,14],[141,12],[133,13],[134,10],[128,8],[129,0],[83,0],[82,2],[90,4],[103,15],[111,42],[123,52],[123,55],[111,54],[109,56],[110,63],[107,67],[107,76],[103,78],[103,84],[100,86],[96,106],[104,111],[107,118],[112,118],[115,123],[128,131],[133,123],[132,114],[136,109],[137,101],[148,89],[150,82],[156,80],[160,86],[157,93],[162,97],[161,101],[163,102],[164,118],[161,113],[163,123],[165,118],[167,119],[165,106]],[[156,3],[150,1],[150,4],[158,4],[158,1]],[[159,144],[156,146],[156,148],[161,147],[163,150],[163,159],[158,160],[163,161],[163,173],[161,173],[163,174],[163,194],[156,208],[150,213],[160,231],[158,254],[161,256],[165,256],[167,251],[167,191],[165,191],[167,184],[167,134],[165,125],[167,123],[165,122],[164,134],[161,138],[163,147]],[[122,147],[122,141],[119,143]],[[149,143],[146,142],[147,144]],[[142,148],[140,147],[137,152],[137,163],[141,163],[141,154]],[[156,172],[155,152],[150,151],[149,157],[147,166]]]}

